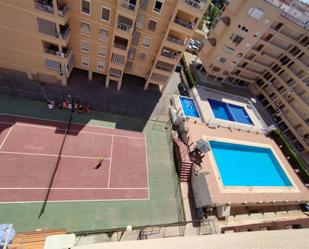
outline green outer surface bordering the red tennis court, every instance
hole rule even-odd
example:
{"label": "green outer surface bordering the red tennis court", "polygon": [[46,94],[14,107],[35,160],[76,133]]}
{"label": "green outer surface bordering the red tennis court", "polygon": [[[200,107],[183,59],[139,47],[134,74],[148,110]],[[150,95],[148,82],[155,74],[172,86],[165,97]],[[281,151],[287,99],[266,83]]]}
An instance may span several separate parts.
{"label": "green outer surface bordering the red tennis court", "polygon": [[[67,112],[49,111],[45,103],[0,96],[0,113],[66,121]],[[74,122],[140,131],[146,137],[149,200],[51,202],[38,218],[42,203],[0,204],[0,223],[17,231],[67,228],[71,232],[107,230],[183,221],[181,194],[164,123],[93,112],[74,114]]]}

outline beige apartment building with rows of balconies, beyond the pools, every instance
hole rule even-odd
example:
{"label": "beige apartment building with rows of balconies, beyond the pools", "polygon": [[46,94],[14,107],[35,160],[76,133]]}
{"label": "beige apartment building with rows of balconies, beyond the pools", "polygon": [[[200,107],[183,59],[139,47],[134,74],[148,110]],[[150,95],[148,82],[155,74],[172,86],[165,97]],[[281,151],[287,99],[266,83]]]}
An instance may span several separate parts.
{"label": "beige apartment building with rows of balconies, beyond the pools", "polygon": [[309,8],[232,0],[199,53],[208,82],[245,86],[309,158]]}

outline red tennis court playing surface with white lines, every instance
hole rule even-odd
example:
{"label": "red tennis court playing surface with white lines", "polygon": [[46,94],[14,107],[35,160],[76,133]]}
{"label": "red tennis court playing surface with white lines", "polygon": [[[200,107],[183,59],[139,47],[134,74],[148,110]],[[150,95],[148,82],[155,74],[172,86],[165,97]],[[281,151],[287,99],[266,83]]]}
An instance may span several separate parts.
{"label": "red tennis court playing surface with white lines", "polygon": [[[66,126],[0,115],[0,202],[44,201]],[[73,118],[48,201],[148,199],[145,145],[143,133]]]}

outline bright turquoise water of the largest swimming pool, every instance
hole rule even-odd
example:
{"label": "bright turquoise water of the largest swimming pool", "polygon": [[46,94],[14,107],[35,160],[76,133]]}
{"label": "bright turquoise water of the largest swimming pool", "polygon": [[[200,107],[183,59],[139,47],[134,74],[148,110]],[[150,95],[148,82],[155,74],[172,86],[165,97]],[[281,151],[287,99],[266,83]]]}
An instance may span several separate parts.
{"label": "bright turquoise water of the largest swimming pool", "polygon": [[209,142],[224,186],[292,186],[269,148]]}

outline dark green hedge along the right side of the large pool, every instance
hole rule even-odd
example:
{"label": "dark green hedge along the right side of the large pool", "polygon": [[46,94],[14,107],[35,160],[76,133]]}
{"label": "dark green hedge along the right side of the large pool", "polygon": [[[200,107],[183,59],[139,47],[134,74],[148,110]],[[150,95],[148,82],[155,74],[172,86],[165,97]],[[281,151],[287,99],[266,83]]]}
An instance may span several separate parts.
{"label": "dark green hedge along the right side of the large pool", "polygon": [[281,150],[294,169],[299,169],[298,176],[304,183],[309,183],[309,169],[300,155],[293,149],[286,138],[283,136],[280,130],[276,129],[272,131],[270,137],[278,144],[282,145]]}

